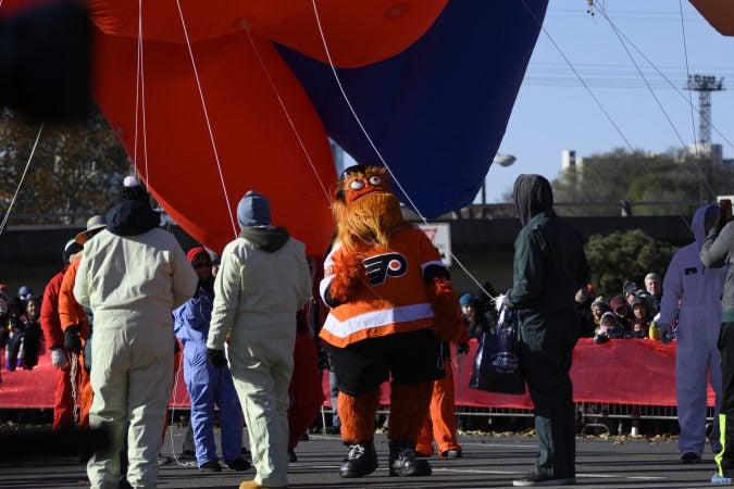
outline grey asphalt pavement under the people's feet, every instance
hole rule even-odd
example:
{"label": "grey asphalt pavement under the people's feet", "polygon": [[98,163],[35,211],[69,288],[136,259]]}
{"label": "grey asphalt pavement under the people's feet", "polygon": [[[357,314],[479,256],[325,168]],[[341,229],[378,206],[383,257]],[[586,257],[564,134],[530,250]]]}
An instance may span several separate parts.
{"label": "grey asphalt pavement under the people's feet", "polygon": [[[184,428],[170,429],[163,453],[181,450]],[[247,439],[247,437],[246,437]],[[296,449],[298,462],[289,466],[290,488],[500,488],[532,468],[537,452],[533,436],[462,435],[461,459],[432,457],[428,477],[387,476],[387,440],[377,435],[380,468],[366,477],[343,479],[338,475],[347,448],[338,436],[310,435]],[[576,486],[584,488],[696,488],[712,487],[714,472],[710,450],[699,464],[680,462],[674,438],[577,437]],[[708,447],[707,447],[708,449]],[[161,467],[160,488],[236,488],[251,479],[253,469],[202,473],[189,462],[175,459]],[[0,488],[88,487],[85,467],[74,456],[0,460]]]}

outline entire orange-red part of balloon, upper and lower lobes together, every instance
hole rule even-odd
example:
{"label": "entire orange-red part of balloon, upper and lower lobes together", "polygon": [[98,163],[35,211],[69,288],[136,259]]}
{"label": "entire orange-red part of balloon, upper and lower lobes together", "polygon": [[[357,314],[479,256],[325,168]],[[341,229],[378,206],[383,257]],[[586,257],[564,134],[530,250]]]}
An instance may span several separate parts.
{"label": "entire orange-red part of balloon, upper and lower lobes together", "polygon": [[[445,4],[318,1],[333,60],[347,67],[400,52]],[[142,2],[142,90],[138,2],[88,5],[98,27],[95,97],[173,218],[221,250],[239,230],[232,220],[239,198],[252,189],[270,198],[275,224],[321,255],[333,228],[334,163],[319,115],[270,40],[325,60],[312,2],[181,0],[203,103],[176,0]]]}

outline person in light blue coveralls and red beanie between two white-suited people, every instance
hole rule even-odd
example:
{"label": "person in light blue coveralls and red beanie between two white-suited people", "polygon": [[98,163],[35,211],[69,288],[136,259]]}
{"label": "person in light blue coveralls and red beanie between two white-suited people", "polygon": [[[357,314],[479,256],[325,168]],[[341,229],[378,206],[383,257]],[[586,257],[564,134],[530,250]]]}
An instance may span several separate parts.
{"label": "person in light blue coveralls and red beanie between two white-suited people", "polygon": [[247,471],[242,459],[242,409],[228,367],[214,368],[207,362],[207,339],[214,299],[212,261],[203,248],[186,254],[199,277],[196,294],[176,309],[174,330],[184,344],[184,379],[191,398],[191,425],[199,469],[220,472],[214,444],[214,403],[220,409],[222,455],[229,468]]}

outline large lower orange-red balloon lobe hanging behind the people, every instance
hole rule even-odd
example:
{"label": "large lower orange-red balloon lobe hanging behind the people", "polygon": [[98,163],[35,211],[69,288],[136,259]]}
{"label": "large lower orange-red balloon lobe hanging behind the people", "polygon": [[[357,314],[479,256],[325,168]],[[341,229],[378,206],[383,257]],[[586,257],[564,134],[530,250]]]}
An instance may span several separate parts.
{"label": "large lower orange-red balloon lobe hanging behind the people", "polygon": [[239,198],[256,190],[270,198],[273,223],[321,255],[336,179],[326,135],[271,42],[252,41],[238,33],[192,47],[220,166],[185,45],[145,41],[137,138],[137,40],[97,33],[95,95],[130,156],[137,139],[136,167],[152,193],[196,239],[221,250],[239,231]]}

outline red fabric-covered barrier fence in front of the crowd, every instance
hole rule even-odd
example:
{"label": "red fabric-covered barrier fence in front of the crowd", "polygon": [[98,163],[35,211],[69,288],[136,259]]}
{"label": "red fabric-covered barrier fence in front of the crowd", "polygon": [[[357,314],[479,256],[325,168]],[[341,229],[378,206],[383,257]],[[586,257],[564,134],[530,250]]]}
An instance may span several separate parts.
{"label": "red fabric-covered barrier fence in front of the crowd", "polygon": [[[476,342],[472,341],[469,354],[453,355],[457,405],[532,409],[527,394],[503,396],[469,388],[475,351]],[[675,342],[662,344],[651,340],[619,339],[596,344],[590,339],[582,339],[573,352],[571,377],[576,402],[674,406]],[[53,406],[50,354],[41,356],[39,365],[33,371],[2,371],[2,380],[0,409]],[[328,400],[326,373],[322,387]],[[389,404],[389,389],[387,385],[385,387],[382,402]],[[713,400],[709,388],[708,404],[713,405]],[[188,406],[183,374],[176,384],[172,404]]]}

